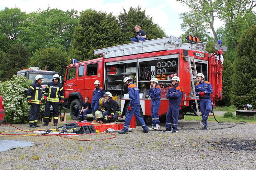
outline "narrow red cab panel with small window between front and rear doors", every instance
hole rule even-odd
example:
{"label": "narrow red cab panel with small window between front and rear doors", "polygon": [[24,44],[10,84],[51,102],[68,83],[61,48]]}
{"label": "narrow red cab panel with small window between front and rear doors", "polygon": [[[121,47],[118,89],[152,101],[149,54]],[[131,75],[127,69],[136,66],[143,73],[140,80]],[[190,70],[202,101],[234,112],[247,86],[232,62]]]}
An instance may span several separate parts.
{"label": "narrow red cab panel with small window between front and rear doors", "polygon": [[84,80],[85,78],[85,65],[79,65],[77,70],[77,91],[81,93],[83,99],[84,99]]}

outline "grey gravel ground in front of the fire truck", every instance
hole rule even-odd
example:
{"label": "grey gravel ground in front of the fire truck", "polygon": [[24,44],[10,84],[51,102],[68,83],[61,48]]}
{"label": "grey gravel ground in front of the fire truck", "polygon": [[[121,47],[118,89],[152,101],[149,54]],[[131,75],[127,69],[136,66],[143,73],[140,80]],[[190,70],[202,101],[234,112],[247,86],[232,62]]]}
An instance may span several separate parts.
{"label": "grey gravel ground in front of the fire truck", "polygon": [[[137,126],[133,132],[115,133],[116,138],[101,141],[77,141],[60,136],[0,136],[3,140],[24,140],[38,144],[2,152],[0,169],[255,169],[256,124],[236,125],[228,129],[218,128],[230,127],[231,123],[217,124],[210,122],[209,130],[199,130],[202,129],[199,122],[179,120],[177,133],[151,131],[149,134],[141,133],[141,127]],[[28,125],[15,126],[30,129]],[[161,129],[164,129],[164,124]],[[1,132],[7,130],[14,128],[0,126]],[[82,135],[77,139],[106,137],[110,135]]]}

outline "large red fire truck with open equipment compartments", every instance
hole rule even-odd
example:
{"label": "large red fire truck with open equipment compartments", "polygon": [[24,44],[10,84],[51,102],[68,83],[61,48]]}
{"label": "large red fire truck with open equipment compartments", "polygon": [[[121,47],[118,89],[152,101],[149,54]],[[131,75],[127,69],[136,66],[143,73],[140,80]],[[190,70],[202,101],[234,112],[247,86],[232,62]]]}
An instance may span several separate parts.
{"label": "large red fire truck with open equipment compartments", "polygon": [[[183,91],[179,119],[184,115],[198,115],[198,98],[195,97],[196,74],[203,73],[205,80],[213,88],[212,105],[222,98],[222,63],[220,54],[208,53],[206,43],[194,42],[182,44],[179,37],[169,36],[136,43],[117,45],[94,50],[102,57],[84,62],[70,63],[66,69],[64,81],[65,108],[70,108],[72,119],[78,119],[78,110],[86,96],[92,99],[94,81],[99,80],[105,92],[109,91],[126,114],[129,94],[124,88],[124,77],[130,76],[140,89],[141,115],[146,122],[151,121],[151,99],[148,98],[150,79],[156,77],[162,89],[159,116],[165,117],[168,100],[165,94],[171,86],[173,76],[179,76],[179,86]],[[193,41],[193,40],[192,40]]]}

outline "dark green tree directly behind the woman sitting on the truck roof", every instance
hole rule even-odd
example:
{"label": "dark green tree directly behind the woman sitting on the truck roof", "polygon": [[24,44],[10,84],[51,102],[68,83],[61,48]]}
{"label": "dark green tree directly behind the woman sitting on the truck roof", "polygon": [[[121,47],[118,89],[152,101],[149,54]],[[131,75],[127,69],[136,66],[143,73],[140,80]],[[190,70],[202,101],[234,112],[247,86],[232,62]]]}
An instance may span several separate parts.
{"label": "dark green tree directly behind the woman sitting on the truck roof", "polygon": [[141,26],[148,40],[165,36],[164,30],[155,24],[152,16],[146,15],[146,9],[142,11],[140,6],[130,7],[128,11],[123,8],[123,12],[118,15],[118,23],[122,30],[123,43],[131,42],[131,38],[135,35],[135,25]]}

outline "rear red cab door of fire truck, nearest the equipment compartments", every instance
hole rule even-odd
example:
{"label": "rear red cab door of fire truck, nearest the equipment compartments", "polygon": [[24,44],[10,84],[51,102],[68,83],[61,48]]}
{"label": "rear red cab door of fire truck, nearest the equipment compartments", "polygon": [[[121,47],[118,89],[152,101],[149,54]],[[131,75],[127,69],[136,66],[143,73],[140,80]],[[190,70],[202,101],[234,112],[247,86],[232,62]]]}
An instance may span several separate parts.
{"label": "rear red cab door of fire truck, nearest the equipment compartments", "polygon": [[[90,99],[89,101],[92,101],[92,94],[93,90],[95,89],[94,81],[98,80],[98,62],[96,63],[90,63],[86,64],[86,72],[85,72],[85,86],[84,86],[84,93],[86,96],[88,96]],[[100,84],[101,87],[103,87],[103,82]]]}

